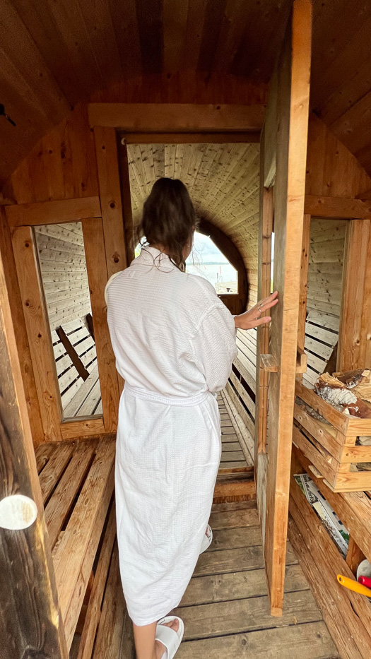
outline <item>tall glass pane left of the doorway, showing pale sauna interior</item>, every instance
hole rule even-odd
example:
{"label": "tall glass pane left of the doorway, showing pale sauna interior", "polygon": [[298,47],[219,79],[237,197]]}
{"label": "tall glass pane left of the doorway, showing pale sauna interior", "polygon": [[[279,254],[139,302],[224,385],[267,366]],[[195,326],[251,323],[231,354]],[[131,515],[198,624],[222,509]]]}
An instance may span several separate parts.
{"label": "tall glass pane left of the doorway, showing pale sauna interior", "polygon": [[63,419],[102,415],[81,222],[34,228]]}

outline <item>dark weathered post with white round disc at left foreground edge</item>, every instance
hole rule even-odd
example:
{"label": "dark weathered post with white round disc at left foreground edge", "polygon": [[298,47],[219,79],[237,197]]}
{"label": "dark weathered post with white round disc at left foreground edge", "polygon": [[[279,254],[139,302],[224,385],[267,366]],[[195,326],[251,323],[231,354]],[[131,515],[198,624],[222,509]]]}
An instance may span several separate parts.
{"label": "dark weathered post with white round disc at left foreground edge", "polygon": [[0,389],[0,500],[24,494],[38,510],[24,530],[0,528],[1,646],[7,659],[68,659],[1,259]]}

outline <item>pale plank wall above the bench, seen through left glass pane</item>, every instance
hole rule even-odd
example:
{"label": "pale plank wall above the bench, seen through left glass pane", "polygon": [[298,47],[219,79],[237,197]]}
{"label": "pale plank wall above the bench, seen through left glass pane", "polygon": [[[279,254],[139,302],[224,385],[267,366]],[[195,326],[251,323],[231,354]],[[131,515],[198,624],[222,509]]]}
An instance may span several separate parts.
{"label": "pale plank wall above the bench, seen through left glass pane", "polygon": [[45,301],[53,331],[91,313],[81,222],[35,227]]}

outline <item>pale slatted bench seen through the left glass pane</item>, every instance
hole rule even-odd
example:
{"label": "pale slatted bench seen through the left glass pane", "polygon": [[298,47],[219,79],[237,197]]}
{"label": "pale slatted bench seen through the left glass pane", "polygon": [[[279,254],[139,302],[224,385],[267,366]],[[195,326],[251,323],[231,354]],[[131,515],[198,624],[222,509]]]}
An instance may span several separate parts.
{"label": "pale slatted bench seen through the left glass pane", "polygon": [[[97,351],[87,324],[83,319],[62,323],[52,331],[52,342],[64,418],[102,414]],[[81,369],[73,364],[66,342],[75,352]]]}

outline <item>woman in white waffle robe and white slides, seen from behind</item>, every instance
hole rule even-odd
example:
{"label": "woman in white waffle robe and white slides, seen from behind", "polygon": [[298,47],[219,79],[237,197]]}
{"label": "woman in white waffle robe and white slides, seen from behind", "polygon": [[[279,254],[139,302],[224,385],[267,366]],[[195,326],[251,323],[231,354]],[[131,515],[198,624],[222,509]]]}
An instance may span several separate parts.
{"label": "woman in white waffle robe and white slides, seen from behind", "polygon": [[277,302],[275,293],[233,318],[208,281],[184,272],[195,226],[184,184],[159,179],[143,208],[141,254],[106,287],[125,379],[117,538],[137,659],[172,659],[182,640],[182,620],[163,616],[179,604],[205,546],[221,453],[216,392],[237,355],[237,328],[269,322],[261,313]]}

